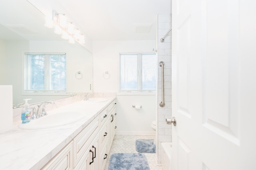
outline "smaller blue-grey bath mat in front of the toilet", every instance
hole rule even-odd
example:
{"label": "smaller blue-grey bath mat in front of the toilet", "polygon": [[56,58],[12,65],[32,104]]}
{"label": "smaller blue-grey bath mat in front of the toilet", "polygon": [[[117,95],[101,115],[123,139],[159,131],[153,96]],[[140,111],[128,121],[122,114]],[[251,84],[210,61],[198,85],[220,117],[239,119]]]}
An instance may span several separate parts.
{"label": "smaller blue-grey bath mat in front of the toilet", "polygon": [[136,150],[140,153],[156,153],[154,139],[137,139]]}

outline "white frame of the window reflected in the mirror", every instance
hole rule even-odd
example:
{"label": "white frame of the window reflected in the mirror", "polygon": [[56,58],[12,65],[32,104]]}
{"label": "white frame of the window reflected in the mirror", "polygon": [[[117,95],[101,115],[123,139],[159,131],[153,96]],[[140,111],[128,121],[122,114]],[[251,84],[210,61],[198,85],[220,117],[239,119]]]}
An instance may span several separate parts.
{"label": "white frame of the window reflected in the mirror", "polygon": [[[25,86],[26,86],[26,79],[28,78],[27,76],[25,76],[25,72],[27,72],[28,68],[26,67],[26,54],[38,54],[38,55],[54,55],[54,54],[61,54],[61,55],[66,55],[66,72],[67,72],[67,58],[68,58],[68,54],[67,53],[64,53],[64,52],[53,52],[53,53],[41,53],[41,52],[25,52],[25,51],[22,51],[22,71],[21,71],[21,78],[22,78],[22,94],[21,95],[24,95],[24,96],[60,96],[60,95],[65,95],[66,92],[67,92],[67,74],[66,74],[66,90],[61,90],[61,91],[58,91],[58,90],[45,90],[46,92],[43,92],[44,90],[34,90],[34,92],[32,92],[33,90],[31,90],[30,92],[28,92],[29,90],[25,90]],[[49,64],[50,66],[50,64]],[[46,71],[46,69],[45,69]],[[48,76],[50,78],[50,75]]]}

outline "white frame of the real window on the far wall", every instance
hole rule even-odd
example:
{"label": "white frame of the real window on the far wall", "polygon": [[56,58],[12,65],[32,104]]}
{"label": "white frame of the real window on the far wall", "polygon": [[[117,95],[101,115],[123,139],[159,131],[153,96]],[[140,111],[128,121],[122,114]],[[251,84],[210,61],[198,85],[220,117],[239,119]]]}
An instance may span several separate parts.
{"label": "white frame of the real window on the far wall", "polygon": [[[154,91],[152,90],[120,90],[120,81],[121,81],[121,55],[144,55],[144,54],[154,54],[156,55],[156,89]],[[140,59],[139,59],[140,58]],[[140,64],[140,66],[142,66],[142,57],[138,57],[137,59],[137,66]],[[117,92],[117,95],[120,95],[120,96],[126,96],[126,95],[144,95],[144,96],[147,96],[147,95],[156,95],[156,91],[157,91],[157,75],[158,75],[158,68],[157,68],[157,54],[156,52],[128,52],[128,53],[119,53],[119,56],[118,56],[118,66],[119,66],[119,69],[118,69],[118,92]],[[141,80],[140,82],[138,82],[138,88],[139,86],[142,87],[142,72],[141,74],[138,75],[138,80]],[[130,91],[130,92],[129,92]]]}

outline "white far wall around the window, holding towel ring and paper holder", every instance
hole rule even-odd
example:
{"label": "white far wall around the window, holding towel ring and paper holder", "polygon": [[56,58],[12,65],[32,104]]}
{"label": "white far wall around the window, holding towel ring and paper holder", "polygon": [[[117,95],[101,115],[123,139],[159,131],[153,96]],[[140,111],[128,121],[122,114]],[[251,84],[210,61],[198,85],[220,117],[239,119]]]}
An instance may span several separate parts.
{"label": "white far wall around the window, holding towel ring and paper holder", "polygon": [[[152,52],[155,41],[94,41],[93,42],[93,80],[94,92],[118,93],[119,53]],[[102,74],[108,71],[110,78]],[[135,109],[132,105],[142,105]],[[151,123],[156,119],[156,95],[117,95],[116,134],[153,135]]]}

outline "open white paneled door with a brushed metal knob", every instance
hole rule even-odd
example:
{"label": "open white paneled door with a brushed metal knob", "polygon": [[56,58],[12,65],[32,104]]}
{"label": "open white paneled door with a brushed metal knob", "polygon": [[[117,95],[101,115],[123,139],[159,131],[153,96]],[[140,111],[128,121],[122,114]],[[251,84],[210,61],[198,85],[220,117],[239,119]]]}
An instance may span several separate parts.
{"label": "open white paneled door with a brushed metal knob", "polygon": [[172,0],[172,170],[256,170],[256,1]]}

